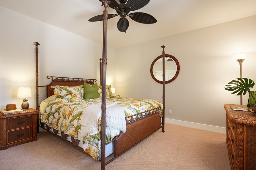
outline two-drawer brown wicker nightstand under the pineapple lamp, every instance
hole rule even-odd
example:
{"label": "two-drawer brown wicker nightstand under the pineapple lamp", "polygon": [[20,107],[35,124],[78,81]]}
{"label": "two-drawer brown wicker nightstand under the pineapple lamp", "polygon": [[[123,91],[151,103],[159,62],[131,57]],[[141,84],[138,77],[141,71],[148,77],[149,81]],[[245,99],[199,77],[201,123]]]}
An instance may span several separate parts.
{"label": "two-drawer brown wicker nightstand under the pineapple lamp", "polygon": [[0,150],[37,140],[37,114],[32,108],[18,113],[0,112]]}

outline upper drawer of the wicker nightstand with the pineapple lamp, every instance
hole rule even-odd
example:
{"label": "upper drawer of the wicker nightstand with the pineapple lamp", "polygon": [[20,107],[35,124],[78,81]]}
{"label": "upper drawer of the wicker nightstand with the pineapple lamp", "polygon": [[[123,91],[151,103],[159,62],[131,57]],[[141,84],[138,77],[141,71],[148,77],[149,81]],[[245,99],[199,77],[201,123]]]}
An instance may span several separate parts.
{"label": "upper drawer of the wicker nightstand with the pineapple lamp", "polygon": [[32,115],[8,118],[8,130],[32,126]]}

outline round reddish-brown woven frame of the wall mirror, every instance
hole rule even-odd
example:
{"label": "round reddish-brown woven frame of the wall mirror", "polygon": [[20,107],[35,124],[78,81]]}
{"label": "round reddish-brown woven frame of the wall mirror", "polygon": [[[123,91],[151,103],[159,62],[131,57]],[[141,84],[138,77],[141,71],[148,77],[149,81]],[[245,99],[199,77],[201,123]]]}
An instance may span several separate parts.
{"label": "round reddish-brown woven frame of the wall mirror", "polygon": [[[153,78],[156,82],[161,83],[161,84],[163,84],[163,81],[160,81],[160,80],[156,79],[156,77],[155,77],[154,74],[153,74],[153,67],[154,67],[154,64],[156,63],[156,61],[157,61],[158,59],[162,58],[162,57],[163,57],[163,55],[158,56],[156,59],[154,59],[154,61],[153,61],[152,64],[151,64],[151,67],[150,67],[150,74],[151,74],[152,78]],[[165,57],[168,57],[168,58],[173,59],[173,61],[175,61],[176,65],[177,65],[177,70],[176,70],[176,73],[175,73],[174,77],[173,77],[172,79],[170,79],[170,80],[164,82],[164,84],[167,84],[167,83],[170,83],[170,82],[172,82],[173,80],[175,80],[175,79],[177,78],[177,76],[178,76],[178,74],[179,74],[179,62],[178,62],[178,60],[177,60],[174,56],[172,56],[172,55],[165,54]]]}

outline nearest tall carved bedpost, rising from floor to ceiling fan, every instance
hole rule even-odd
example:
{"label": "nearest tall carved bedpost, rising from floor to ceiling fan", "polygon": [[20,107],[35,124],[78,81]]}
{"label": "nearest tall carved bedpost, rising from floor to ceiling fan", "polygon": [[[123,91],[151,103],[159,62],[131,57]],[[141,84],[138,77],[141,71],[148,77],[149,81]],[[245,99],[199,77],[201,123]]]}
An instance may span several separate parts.
{"label": "nearest tall carved bedpost, rising from floor to ceiling fan", "polygon": [[102,0],[103,11],[103,48],[102,48],[102,105],[101,105],[101,170],[105,170],[106,158],[106,73],[107,73],[107,33],[108,33],[108,11],[107,7],[110,4],[108,0]]}

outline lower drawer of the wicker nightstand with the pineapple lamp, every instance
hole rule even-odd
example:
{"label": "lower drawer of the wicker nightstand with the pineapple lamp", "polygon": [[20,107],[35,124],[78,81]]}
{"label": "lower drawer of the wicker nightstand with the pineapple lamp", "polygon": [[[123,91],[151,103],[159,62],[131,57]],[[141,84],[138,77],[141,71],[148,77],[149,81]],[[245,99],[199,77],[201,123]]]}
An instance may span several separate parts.
{"label": "lower drawer of the wicker nightstand with the pineapple lamp", "polygon": [[7,136],[8,136],[7,144],[32,138],[32,127],[8,131]]}

